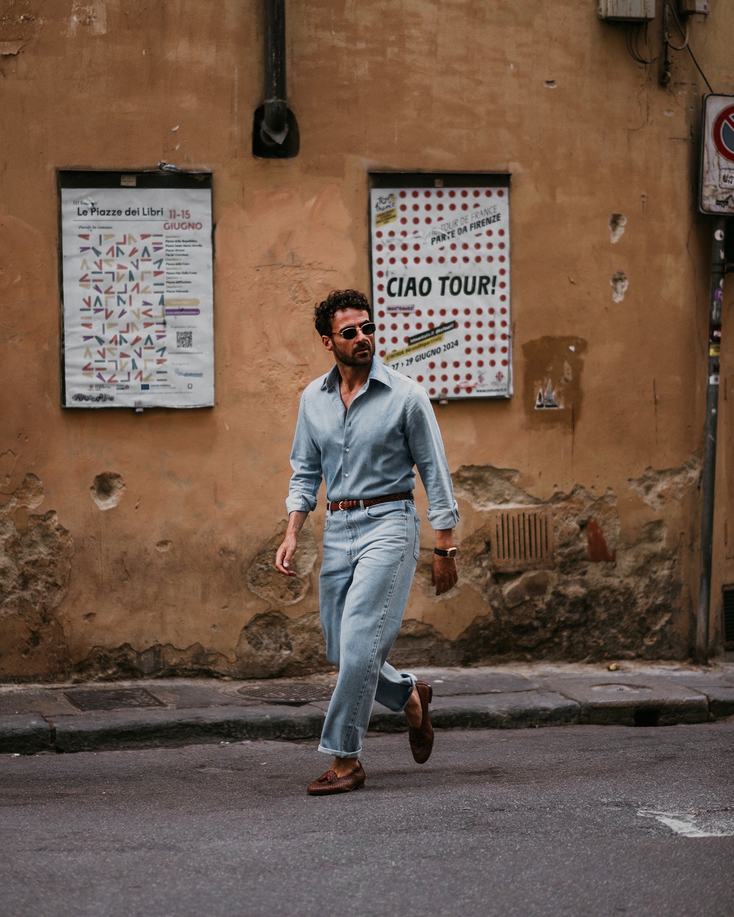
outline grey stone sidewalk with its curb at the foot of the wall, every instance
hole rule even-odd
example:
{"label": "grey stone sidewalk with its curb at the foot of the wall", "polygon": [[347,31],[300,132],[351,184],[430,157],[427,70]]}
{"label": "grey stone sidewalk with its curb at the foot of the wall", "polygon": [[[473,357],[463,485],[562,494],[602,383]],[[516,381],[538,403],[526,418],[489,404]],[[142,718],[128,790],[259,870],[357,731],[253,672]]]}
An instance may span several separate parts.
{"label": "grey stone sidewalk with its curb at the foot of the wall", "polygon": [[[614,668],[614,666],[612,666]],[[665,726],[734,714],[734,662],[419,668],[439,729]],[[0,752],[317,739],[336,673],[300,679],[150,679],[0,686]],[[375,704],[370,729],[406,731]]]}

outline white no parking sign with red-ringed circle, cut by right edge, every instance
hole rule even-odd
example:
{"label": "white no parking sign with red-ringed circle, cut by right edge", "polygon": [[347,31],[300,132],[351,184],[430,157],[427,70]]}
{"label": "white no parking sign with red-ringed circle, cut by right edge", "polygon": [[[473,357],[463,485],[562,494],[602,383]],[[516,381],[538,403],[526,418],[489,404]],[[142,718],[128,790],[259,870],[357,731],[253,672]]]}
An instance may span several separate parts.
{"label": "white no parking sign with red-ringed circle, cut by right edge", "polygon": [[734,95],[705,95],[703,119],[699,208],[734,214]]}

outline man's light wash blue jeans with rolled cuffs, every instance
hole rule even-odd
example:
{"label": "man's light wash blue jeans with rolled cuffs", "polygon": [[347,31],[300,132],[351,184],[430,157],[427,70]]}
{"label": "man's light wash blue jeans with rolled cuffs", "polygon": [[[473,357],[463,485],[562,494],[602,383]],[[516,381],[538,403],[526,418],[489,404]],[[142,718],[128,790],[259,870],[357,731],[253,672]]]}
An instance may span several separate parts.
{"label": "man's light wash blue jeans with rolled cuffs", "polygon": [[373,701],[402,710],[416,676],[385,662],[403,621],[420,543],[408,500],[327,511],[318,578],[327,657],[339,667],[318,750],[359,757]]}

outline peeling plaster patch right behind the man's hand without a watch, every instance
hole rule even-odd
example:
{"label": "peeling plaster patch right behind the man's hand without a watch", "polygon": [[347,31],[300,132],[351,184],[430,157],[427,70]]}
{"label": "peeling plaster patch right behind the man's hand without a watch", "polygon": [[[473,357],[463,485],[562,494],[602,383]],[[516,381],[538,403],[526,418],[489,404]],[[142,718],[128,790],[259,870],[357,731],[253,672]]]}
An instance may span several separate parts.
{"label": "peeling plaster patch right behind the man's hand without a watch", "polygon": [[247,571],[247,584],[250,590],[266,602],[281,607],[295,605],[306,596],[311,584],[311,571],[318,557],[311,520],[306,519],[306,524],[298,536],[298,547],[291,564],[291,569],[295,569],[297,575],[286,577],[279,573],[275,569],[275,552],[283,541],[286,525],[287,523],[283,522],[279,526],[275,535],[252,560]]}

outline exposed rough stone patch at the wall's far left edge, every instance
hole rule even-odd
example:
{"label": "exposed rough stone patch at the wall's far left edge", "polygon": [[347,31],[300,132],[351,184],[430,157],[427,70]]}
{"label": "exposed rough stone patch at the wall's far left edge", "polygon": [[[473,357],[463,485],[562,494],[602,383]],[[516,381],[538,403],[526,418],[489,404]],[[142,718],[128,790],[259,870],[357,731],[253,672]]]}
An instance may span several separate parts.
{"label": "exposed rough stone patch at the wall's far left edge", "polygon": [[0,680],[58,679],[69,668],[55,610],[69,589],[72,536],[54,511],[29,515],[25,531],[17,525],[42,500],[41,482],[27,474],[0,506]]}

